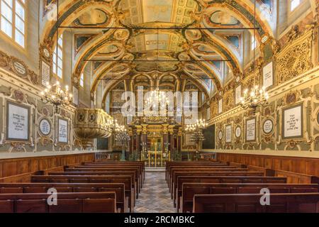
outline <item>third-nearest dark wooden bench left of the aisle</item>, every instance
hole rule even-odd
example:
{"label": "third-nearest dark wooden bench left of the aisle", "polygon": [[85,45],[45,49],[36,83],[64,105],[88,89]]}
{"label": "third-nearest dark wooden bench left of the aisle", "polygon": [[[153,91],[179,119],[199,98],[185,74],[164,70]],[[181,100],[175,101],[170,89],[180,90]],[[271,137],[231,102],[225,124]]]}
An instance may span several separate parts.
{"label": "third-nearest dark wooden bench left of the aisle", "polygon": [[130,175],[33,175],[31,182],[39,183],[123,183],[125,184],[125,196],[128,197],[130,212],[135,205],[135,191],[132,187]]}

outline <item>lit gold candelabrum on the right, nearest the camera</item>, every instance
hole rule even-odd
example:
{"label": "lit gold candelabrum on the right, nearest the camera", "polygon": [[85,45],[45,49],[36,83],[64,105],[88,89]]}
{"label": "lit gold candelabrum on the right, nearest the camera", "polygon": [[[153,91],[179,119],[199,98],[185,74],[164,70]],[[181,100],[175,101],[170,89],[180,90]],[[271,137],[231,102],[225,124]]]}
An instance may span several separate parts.
{"label": "lit gold candelabrum on the right, nearest the camera", "polygon": [[269,95],[265,87],[259,89],[258,86],[253,87],[250,92],[245,90],[244,96],[240,98],[240,105],[243,109],[253,109],[254,114],[259,106],[267,106]]}

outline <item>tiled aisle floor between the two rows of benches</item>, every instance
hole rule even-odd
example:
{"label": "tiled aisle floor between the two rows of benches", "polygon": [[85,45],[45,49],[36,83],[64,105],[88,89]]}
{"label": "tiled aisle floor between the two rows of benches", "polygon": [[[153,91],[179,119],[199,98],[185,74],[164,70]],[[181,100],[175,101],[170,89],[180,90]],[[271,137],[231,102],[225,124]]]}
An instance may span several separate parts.
{"label": "tiled aisle floor between the two rows of benches", "polygon": [[135,213],[175,213],[165,181],[165,172],[145,173],[145,182],[134,211]]}

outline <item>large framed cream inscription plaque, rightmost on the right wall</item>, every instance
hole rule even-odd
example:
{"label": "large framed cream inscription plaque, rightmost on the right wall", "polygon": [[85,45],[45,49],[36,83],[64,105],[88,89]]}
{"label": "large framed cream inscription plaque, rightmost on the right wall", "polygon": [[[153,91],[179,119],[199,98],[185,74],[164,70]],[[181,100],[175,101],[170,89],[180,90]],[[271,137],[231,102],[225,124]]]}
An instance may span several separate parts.
{"label": "large framed cream inscription plaque, rightmost on the right wall", "polygon": [[282,137],[303,138],[303,104],[282,110]]}

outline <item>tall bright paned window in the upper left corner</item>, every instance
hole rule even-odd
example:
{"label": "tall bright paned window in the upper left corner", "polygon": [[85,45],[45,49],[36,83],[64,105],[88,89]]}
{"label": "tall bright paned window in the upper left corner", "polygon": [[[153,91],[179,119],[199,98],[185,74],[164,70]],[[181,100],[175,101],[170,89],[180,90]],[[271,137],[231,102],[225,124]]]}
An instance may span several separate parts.
{"label": "tall bright paned window in the upper left corner", "polygon": [[0,28],[21,47],[25,47],[26,0],[0,0]]}

